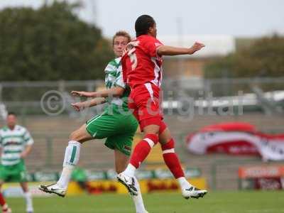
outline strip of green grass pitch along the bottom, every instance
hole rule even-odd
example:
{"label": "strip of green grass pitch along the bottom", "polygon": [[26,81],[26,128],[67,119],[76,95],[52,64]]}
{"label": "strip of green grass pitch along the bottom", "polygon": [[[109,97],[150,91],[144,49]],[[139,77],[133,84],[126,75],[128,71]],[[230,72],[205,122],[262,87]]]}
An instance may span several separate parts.
{"label": "strip of green grass pitch along the bottom", "polygon": [[[150,213],[280,213],[284,192],[209,192],[203,199],[185,200],[177,193],[143,195]],[[8,199],[13,212],[25,212],[20,198]],[[35,213],[130,213],[135,212],[128,195],[34,198]]]}

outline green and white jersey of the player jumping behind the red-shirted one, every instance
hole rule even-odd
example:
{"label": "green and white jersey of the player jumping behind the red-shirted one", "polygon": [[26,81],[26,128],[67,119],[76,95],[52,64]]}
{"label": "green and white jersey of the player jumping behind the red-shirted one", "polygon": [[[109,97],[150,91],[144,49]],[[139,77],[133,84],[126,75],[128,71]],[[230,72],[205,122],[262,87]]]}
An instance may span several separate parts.
{"label": "green and white jersey of the player jumping behind the red-shirted one", "polygon": [[122,107],[122,109],[124,109],[124,111],[127,111],[127,99],[130,92],[129,89],[126,88],[126,84],[124,83],[124,79],[122,77],[121,57],[111,60],[105,68],[104,72],[107,89],[111,89],[112,87],[122,87],[126,89],[121,97],[112,97],[111,99],[109,98],[108,102],[110,104],[120,106]]}

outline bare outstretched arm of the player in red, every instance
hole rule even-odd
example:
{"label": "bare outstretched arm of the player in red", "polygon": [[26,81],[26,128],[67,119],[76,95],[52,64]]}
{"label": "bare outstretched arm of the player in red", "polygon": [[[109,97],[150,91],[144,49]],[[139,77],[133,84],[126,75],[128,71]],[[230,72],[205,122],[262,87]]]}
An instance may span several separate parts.
{"label": "bare outstretched arm of the player in red", "polygon": [[167,45],[162,45],[157,48],[158,55],[192,55],[198,50],[204,48],[203,43],[195,42],[190,48],[177,48]]}

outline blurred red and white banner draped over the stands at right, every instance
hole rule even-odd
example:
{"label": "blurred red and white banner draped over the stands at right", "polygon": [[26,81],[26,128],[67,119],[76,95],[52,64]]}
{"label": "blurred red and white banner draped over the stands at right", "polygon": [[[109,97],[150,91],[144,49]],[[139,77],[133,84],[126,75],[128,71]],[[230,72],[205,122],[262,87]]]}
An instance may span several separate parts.
{"label": "blurred red and white banner draped over the stands at right", "polygon": [[261,155],[263,160],[284,160],[284,134],[268,135],[246,123],[205,126],[187,136],[187,149],[195,154]]}

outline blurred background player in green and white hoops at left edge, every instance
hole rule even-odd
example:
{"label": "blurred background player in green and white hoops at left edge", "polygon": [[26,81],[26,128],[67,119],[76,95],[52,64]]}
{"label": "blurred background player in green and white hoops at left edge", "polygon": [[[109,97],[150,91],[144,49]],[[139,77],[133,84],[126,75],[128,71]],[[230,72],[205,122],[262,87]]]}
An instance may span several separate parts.
{"label": "blurred background player in green and white hoops at left edge", "polygon": [[[19,182],[26,198],[26,212],[32,213],[33,203],[28,192],[24,159],[31,152],[33,138],[26,128],[16,124],[16,114],[10,112],[6,122],[7,126],[0,129],[0,189],[4,182]],[[1,193],[0,203],[2,212],[11,212]]]}

